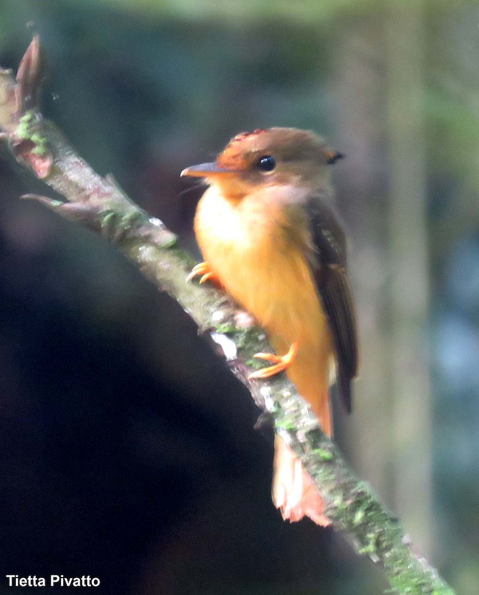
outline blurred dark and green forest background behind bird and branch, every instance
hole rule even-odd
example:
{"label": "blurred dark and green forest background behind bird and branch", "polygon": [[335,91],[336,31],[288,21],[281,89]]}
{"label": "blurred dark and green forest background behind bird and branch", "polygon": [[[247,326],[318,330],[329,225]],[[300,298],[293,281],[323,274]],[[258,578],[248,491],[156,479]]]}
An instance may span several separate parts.
{"label": "blurred dark and green forest background behind bird and branch", "polygon": [[[361,377],[337,441],[475,595],[477,2],[0,0],[2,67],[34,33],[43,113],[190,250],[201,189],[179,173],[233,134],[313,129],[347,155]],[[20,201],[51,192],[6,149],[0,180],[0,593],[51,572],[117,594],[382,593],[341,536],[281,521],[271,432],[180,308]]]}

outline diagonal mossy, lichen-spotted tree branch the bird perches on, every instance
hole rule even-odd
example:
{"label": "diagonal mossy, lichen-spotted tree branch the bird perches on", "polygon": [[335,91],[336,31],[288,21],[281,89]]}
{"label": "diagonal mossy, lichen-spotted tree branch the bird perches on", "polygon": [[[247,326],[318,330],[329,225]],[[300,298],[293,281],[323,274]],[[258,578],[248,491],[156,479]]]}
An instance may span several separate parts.
{"label": "diagonal mossy, lichen-spotted tree branch the bird perches on", "polygon": [[[114,242],[162,291],[174,297],[200,331],[220,350],[233,374],[248,386],[256,404],[274,418],[275,431],[299,456],[327,503],[326,514],[403,595],[454,595],[437,571],[415,555],[399,520],[358,481],[336,445],[321,431],[308,404],[286,375],[249,381],[252,355],[271,350],[261,328],[251,326],[223,293],[185,283],[192,258],[176,245],[164,224],[142,211],[112,177],[103,178],[80,158],[54,124],[43,119],[37,101],[42,82],[39,40],[35,37],[18,68],[17,79],[0,71],[0,127],[18,162],[56,190],[61,200],[27,195],[62,217],[77,221]],[[246,321],[246,324],[245,324]]]}

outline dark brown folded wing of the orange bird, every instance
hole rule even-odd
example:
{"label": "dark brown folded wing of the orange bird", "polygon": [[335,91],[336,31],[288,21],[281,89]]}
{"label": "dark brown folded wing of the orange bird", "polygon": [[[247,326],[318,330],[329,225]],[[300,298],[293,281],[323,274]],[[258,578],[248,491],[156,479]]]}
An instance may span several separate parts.
{"label": "dark brown folded wing of the orange bird", "polygon": [[351,380],[358,373],[358,340],[354,305],[346,276],[346,237],[337,215],[321,196],[306,205],[312,249],[308,255],[328,318],[337,357],[337,384],[351,411]]}

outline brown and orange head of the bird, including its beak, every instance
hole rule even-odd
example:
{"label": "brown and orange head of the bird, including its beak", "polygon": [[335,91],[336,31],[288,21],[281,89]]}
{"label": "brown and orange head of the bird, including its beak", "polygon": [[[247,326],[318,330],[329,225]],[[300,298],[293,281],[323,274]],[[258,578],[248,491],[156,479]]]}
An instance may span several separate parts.
{"label": "brown and orange head of the bird, including its beak", "polygon": [[270,128],[237,134],[216,161],[187,167],[181,176],[205,178],[237,199],[262,186],[321,187],[330,179],[329,165],[342,157],[312,132]]}

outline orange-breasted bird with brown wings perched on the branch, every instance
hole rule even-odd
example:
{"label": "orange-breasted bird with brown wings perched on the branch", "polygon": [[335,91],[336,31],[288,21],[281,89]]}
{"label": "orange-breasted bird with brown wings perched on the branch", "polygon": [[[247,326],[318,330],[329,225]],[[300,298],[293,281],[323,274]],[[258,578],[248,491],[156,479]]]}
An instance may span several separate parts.
{"label": "orange-breasted bird with brown wings perched on the branch", "polygon": [[[195,215],[205,262],[189,278],[217,280],[251,312],[281,354],[258,353],[273,365],[251,378],[286,370],[330,436],[331,381],[349,412],[358,368],[346,239],[330,184],[342,156],[309,131],[271,128],[237,134],[216,161],[181,172],[209,186]],[[285,519],[328,524],[311,477],[278,436],[273,502]]]}

